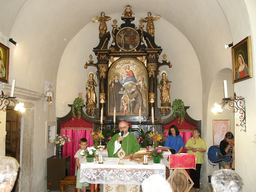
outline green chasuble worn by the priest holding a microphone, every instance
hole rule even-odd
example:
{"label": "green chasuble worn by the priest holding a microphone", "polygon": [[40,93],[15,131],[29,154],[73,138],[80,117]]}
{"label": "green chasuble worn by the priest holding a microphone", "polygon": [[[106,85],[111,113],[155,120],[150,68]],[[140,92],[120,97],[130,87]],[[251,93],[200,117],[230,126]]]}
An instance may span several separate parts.
{"label": "green chasuble worn by the priest holding a microphone", "polygon": [[[115,141],[118,139],[118,137],[120,137],[119,134],[115,134],[111,140],[108,141],[107,144],[107,150],[108,150],[108,157],[118,157],[117,153],[118,151],[120,151],[120,149],[115,153],[114,153],[114,149],[115,149]],[[137,151],[140,151],[140,144],[137,140],[137,137],[135,137],[133,134],[129,134],[128,136],[124,137],[124,139],[122,140],[122,148],[125,151],[125,155],[128,154],[133,154]]]}

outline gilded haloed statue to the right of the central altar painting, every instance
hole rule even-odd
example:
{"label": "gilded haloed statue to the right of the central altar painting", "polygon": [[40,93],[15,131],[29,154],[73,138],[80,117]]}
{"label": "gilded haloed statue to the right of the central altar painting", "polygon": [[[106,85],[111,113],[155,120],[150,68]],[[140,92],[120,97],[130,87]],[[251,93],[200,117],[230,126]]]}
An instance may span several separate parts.
{"label": "gilded haloed statue to the right of the central altar painting", "polygon": [[157,88],[160,88],[160,99],[161,99],[161,107],[171,107],[171,102],[170,102],[170,87],[171,87],[171,82],[167,79],[168,73],[167,71],[163,70],[159,73],[159,76],[162,77],[160,84],[158,84],[158,79],[157,79]]}

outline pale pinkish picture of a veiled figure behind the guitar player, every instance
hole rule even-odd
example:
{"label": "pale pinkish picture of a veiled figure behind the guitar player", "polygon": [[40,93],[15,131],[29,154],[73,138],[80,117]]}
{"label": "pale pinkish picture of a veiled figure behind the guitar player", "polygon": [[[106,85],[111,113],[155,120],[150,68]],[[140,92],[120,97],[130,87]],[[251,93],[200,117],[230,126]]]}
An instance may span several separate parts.
{"label": "pale pinkish picture of a veiled figure behind the guitar player", "polygon": [[220,145],[228,131],[230,131],[229,119],[213,120],[213,145]]}

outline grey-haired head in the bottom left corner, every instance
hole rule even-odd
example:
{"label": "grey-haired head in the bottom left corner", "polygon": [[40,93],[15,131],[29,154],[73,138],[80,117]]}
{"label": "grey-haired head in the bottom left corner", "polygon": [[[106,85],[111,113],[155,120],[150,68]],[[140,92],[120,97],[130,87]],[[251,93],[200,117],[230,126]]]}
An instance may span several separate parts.
{"label": "grey-haired head in the bottom left corner", "polygon": [[0,190],[4,192],[12,191],[15,183],[19,163],[13,157],[0,157]]}

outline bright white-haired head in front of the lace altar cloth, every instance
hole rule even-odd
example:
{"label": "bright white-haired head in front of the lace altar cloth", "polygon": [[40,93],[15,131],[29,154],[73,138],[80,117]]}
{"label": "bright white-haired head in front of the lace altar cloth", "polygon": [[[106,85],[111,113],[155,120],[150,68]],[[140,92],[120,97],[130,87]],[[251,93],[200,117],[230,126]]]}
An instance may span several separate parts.
{"label": "bright white-haired head in front of the lace altar cloth", "polygon": [[158,174],[145,179],[141,186],[143,192],[172,192],[170,183]]}

